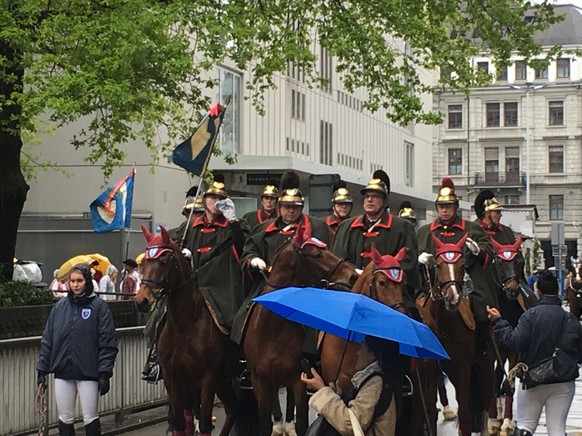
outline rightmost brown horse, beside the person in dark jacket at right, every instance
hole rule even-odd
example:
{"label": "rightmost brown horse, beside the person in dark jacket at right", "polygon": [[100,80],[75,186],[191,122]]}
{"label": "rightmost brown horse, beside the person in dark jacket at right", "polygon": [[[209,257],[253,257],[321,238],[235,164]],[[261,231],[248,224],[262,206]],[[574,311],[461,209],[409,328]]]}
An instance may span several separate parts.
{"label": "rightmost brown horse, beside the person in dark jacket at right", "polygon": [[[495,278],[495,287],[497,288],[497,297],[499,301],[499,311],[503,319],[507,320],[513,327],[517,325],[519,317],[526,310],[525,302],[522,295],[522,275],[525,266],[525,259],[521,253],[522,238],[521,236],[513,244],[500,244],[491,239],[495,250],[493,258],[493,270]],[[505,401],[503,404],[503,422],[501,425],[497,418],[497,399],[493,397],[489,407],[489,433],[501,436],[513,434],[513,393],[507,382],[503,383],[505,374],[505,363],[508,362],[508,370],[511,370],[518,361],[518,353],[502,346],[498,342],[497,347],[497,368],[496,391],[499,396],[503,395]]]}

